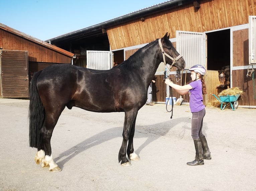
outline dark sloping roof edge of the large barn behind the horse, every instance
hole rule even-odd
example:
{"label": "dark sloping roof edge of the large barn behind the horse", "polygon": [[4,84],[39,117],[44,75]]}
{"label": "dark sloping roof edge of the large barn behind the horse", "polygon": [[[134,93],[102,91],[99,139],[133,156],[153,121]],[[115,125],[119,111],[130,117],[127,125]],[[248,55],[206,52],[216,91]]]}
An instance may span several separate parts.
{"label": "dark sloping roof edge of the large barn behind the horse", "polygon": [[142,18],[147,15],[151,15],[153,13],[157,13],[160,11],[164,11],[173,7],[177,7],[180,5],[187,4],[189,2],[192,2],[195,0],[170,0],[170,1],[165,1],[163,3],[159,3],[156,5],[153,5],[151,7],[147,7],[144,9],[141,9],[139,11],[135,11],[84,29],[76,30],[67,34],[63,34],[60,36],[57,36],[55,38],[51,38],[46,40],[45,42],[48,43],[54,43],[54,42],[59,42],[63,40],[73,40],[79,37],[86,38],[86,37],[91,37],[91,36],[99,36],[104,33],[106,28],[113,27],[115,25],[119,25],[128,21],[132,21],[134,19]]}

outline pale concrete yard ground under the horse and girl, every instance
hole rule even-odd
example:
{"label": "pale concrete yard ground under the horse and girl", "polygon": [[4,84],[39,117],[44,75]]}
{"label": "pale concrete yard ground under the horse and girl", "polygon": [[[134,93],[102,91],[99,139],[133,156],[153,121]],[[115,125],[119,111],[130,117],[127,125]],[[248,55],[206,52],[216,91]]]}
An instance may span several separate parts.
{"label": "pale concrete yard ground under the horse and girl", "polygon": [[[53,131],[52,154],[62,169],[36,165],[28,142],[29,100],[0,98],[0,190],[256,190],[256,109],[206,108],[203,132],[212,160],[195,157],[188,105],[143,106],[134,137],[140,161],[118,163],[124,113],[65,109]],[[168,108],[170,109],[170,107]]]}

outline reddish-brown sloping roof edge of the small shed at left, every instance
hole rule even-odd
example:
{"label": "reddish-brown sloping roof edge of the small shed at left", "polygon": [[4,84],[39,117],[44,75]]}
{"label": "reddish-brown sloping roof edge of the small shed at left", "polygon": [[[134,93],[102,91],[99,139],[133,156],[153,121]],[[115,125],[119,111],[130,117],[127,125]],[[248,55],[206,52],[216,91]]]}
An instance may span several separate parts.
{"label": "reddish-brown sloping roof edge of the small shed at left", "polygon": [[27,34],[25,34],[25,33],[20,32],[20,31],[17,31],[17,30],[15,30],[15,29],[13,29],[13,28],[11,28],[11,27],[8,27],[7,25],[4,25],[4,24],[2,24],[2,23],[0,23],[0,29],[3,29],[3,30],[5,30],[5,31],[8,31],[8,32],[10,32],[10,33],[12,33],[12,34],[15,34],[15,35],[17,35],[17,36],[20,36],[20,37],[22,37],[22,38],[24,38],[24,39],[27,39],[27,40],[29,40],[29,41],[32,41],[32,42],[34,42],[34,43],[36,43],[36,44],[39,44],[39,45],[41,45],[41,46],[44,46],[44,47],[46,47],[46,48],[48,48],[48,49],[54,50],[54,51],[56,51],[56,52],[59,52],[59,53],[61,53],[61,54],[63,54],[63,55],[66,55],[66,56],[69,56],[69,57],[73,57],[73,56],[74,56],[74,53],[68,52],[68,51],[63,50],[63,49],[61,49],[61,48],[59,48],[59,47],[56,47],[56,46],[54,46],[54,45],[51,45],[51,44],[49,44],[49,43],[47,43],[47,42],[44,42],[44,41],[39,40],[39,39],[37,39],[37,38],[34,38],[34,37],[30,36],[30,35],[27,35]]}

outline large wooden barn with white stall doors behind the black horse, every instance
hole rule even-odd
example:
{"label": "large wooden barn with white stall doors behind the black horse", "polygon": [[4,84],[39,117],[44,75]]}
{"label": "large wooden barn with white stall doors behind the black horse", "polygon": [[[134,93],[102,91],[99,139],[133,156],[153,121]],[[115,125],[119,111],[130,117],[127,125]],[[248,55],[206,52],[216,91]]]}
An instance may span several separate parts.
{"label": "large wooden barn with white stall doors behind the black horse", "polygon": [[[230,66],[230,87],[244,91],[239,106],[256,107],[253,65],[255,55],[255,0],[170,0],[145,9],[74,31],[46,42],[76,55],[75,65],[101,69],[90,55],[108,55],[105,69],[112,61],[121,63],[145,44],[170,33],[170,40],[183,56],[188,69],[195,64],[207,68],[207,102],[215,101],[220,85],[218,70]],[[250,17],[251,16],[251,17]],[[97,56],[96,56],[97,58]],[[110,60],[110,61],[109,61]],[[153,84],[153,101],[165,102],[165,66],[160,64]],[[175,79],[175,68],[171,77]],[[250,73],[251,75],[247,75]],[[190,82],[183,70],[178,84]],[[179,97],[174,93],[175,97]],[[189,101],[189,96],[183,97]]]}

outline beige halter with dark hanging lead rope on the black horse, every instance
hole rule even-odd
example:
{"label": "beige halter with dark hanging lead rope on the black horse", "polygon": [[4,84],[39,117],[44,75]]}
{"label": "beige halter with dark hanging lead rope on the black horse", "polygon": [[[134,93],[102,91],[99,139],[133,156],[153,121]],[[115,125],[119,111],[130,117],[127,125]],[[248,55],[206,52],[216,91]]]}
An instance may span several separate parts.
{"label": "beige halter with dark hanging lead rope on the black horse", "polygon": [[[168,70],[170,71],[170,69],[173,67],[173,65],[182,57],[181,55],[179,55],[177,58],[172,58],[171,56],[169,56],[168,54],[166,54],[163,50],[163,46],[162,46],[162,43],[161,43],[161,39],[158,39],[158,43],[159,43],[159,46],[161,48],[161,51],[162,51],[162,54],[163,54],[163,63],[164,65],[166,66],[166,68],[168,68]],[[169,59],[172,60],[172,64],[170,66],[170,68],[167,66],[166,64],[166,61],[165,61],[165,56],[167,56]],[[166,75],[166,71],[164,71],[164,80],[167,78],[167,75]],[[169,78],[170,79],[170,78]],[[171,80],[171,79],[170,79]],[[168,105],[168,102],[169,102],[169,99],[171,97],[171,110],[168,110],[167,109],[167,105]],[[172,88],[169,86],[169,97],[168,97],[168,100],[166,102],[166,111],[167,112],[171,112],[171,119],[172,119],[172,113],[173,113],[173,99],[172,99]]]}

